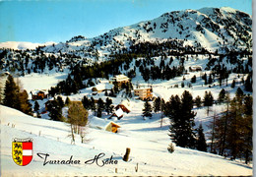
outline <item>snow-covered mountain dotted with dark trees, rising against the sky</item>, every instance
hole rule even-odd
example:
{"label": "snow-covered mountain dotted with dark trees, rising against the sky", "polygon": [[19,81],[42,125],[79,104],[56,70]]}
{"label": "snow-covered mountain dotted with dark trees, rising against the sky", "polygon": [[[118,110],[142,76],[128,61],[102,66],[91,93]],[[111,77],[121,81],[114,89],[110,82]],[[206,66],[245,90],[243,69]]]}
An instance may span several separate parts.
{"label": "snow-covered mountain dotted with dark trees, rising against the sky", "polygon": [[[203,8],[173,11],[159,18],[135,25],[112,29],[94,38],[76,36],[65,43],[43,48],[46,52],[98,52],[99,58],[108,54],[129,51],[140,42],[163,42],[177,39],[185,46],[202,46],[215,52],[221,47],[251,50],[251,16],[231,8]],[[83,56],[83,55],[82,55]]]}

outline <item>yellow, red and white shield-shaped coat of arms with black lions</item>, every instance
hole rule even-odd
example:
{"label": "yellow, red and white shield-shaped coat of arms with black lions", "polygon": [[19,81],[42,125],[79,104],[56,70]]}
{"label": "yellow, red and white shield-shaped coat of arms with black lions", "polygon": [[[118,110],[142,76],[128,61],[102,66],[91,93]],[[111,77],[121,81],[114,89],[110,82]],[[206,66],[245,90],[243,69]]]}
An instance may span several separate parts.
{"label": "yellow, red and white shield-shaped coat of arms with black lions", "polygon": [[14,139],[12,156],[16,164],[28,165],[32,161],[32,139]]}

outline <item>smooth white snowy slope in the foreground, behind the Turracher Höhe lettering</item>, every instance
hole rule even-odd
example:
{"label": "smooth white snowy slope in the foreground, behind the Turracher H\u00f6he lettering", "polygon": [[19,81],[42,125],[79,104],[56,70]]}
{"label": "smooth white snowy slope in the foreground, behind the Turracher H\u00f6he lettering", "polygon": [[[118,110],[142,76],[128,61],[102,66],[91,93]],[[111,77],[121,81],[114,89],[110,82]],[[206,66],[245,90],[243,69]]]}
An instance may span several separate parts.
{"label": "smooth white snowy slope in the foreground, behind the Turracher H\u00f6he lettering", "polygon": [[[69,127],[65,123],[32,118],[17,110],[0,106],[2,175],[252,175],[250,166],[219,155],[178,147],[175,147],[173,153],[169,153],[166,149],[170,142],[167,136],[168,120],[164,119],[163,127],[160,128],[159,116],[145,121],[137,114],[140,108],[140,104],[135,105],[133,113],[118,122],[121,126],[118,134],[88,127],[89,141],[81,144],[77,137],[76,145],[70,145]],[[20,167],[12,160],[12,140],[29,137],[33,139],[32,163]],[[122,161],[125,148],[131,148],[129,162]],[[43,166],[43,160],[36,155],[37,152],[49,153],[49,160],[67,160],[73,155],[73,159],[81,161],[104,152],[106,155],[103,158],[113,155],[118,164],[98,167],[96,164],[85,165],[82,162],[80,165]],[[137,163],[139,170],[135,172]]]}

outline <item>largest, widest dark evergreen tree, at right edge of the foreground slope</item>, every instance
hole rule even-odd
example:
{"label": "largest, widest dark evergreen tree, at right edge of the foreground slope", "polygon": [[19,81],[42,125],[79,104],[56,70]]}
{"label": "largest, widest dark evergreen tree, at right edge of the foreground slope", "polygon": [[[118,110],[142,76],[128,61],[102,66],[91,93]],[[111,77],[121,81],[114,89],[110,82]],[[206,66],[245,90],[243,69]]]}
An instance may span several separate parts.
{"label": "largest, widest dark evergreen tree, at right edge of the foreground slope", "polygon": [[189,91],[182,93],[181,99],[178,95],[171,96],[169,118],[171,125],[169,127],[169,136],[172,142],[183,148],[195,147],[195,134],[193,126],[195,126],[194,118],[196,113],[192,111],[193,97]]}

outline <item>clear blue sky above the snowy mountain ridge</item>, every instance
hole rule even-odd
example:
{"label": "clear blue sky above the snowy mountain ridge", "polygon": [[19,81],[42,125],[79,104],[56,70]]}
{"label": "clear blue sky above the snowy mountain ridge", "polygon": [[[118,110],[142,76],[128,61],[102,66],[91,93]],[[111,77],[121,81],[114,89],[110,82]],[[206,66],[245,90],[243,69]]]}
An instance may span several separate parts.
{"label": "clear blue sky above the snowy mountain ridge", "polygon": [[252,0],[0,0],[0,42],[65,42],[185,9],[231,7],[252,14]]}

